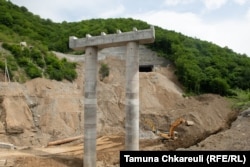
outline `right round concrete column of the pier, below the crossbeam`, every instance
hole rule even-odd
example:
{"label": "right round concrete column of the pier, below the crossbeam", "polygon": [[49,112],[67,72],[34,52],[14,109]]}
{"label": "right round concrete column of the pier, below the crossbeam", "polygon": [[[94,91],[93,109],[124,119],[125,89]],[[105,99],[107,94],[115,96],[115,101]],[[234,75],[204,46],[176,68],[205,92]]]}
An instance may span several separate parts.
{"label": "right round concrete column of the pier, below the crossbeam", "polygon": [[139,150],[139,43],[127,43],[126,150]]}

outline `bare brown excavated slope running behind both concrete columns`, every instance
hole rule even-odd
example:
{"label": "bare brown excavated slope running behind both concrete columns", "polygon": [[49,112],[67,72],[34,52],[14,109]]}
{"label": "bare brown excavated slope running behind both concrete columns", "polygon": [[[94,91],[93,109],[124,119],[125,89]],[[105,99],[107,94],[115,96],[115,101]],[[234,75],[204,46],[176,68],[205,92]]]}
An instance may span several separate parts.
{"label": "bare brown excavated slope running behind both concrete columns", "polygon": [[[97,134],[124,136],[125,61],[111,56],[102,62],[110,67],[110,75],[97,86]],[[42,78],[25,84],[0,83],[0,142],[44,146],[52,140],[83,134],[83,67],[79,63],[79,77],[72,83]],[[145,119],[161,131],[169,131],[170,124],[179,117],[193,122],[193,126],[177,127],[177,144],[166,144],[166,149],[190,146],[227,127],[228,120],[235,116],[229,103],[220,96],[184,98],[173,70],[168,65],[140,73],[142,139],[156,137]]]}

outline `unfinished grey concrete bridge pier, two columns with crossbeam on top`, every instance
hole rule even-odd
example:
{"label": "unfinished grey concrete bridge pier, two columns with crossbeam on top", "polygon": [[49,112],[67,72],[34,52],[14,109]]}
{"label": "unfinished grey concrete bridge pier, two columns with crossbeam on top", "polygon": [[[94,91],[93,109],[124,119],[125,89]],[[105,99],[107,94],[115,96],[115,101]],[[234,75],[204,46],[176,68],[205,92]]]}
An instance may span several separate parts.
{"label": "unfinished grey concrete bridge pier, two columns with crossbeam on top", "polygon": [[154,27],[117,34],[69,38],[69,47],[85,50],[84,167],[96,166],[97,60],[98,50],[127,46],[126,54],[126,150],[139,149],[139,45],[152,43]]}

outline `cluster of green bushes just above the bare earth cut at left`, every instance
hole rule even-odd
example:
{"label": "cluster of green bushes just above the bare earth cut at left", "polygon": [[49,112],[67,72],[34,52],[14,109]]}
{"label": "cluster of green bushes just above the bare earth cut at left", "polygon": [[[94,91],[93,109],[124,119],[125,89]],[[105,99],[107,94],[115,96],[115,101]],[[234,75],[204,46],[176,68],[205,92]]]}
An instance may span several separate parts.
{"label": "cluster of green bushes just above the bare earth cut at left", "polygon": [[[73,81],[77,77],[76,63],[68,62],[65,58],[60,60],[53,53],[43,53],[36,48],[22,49],[19,45],[9,45],[7,43],[3,43],[3,47],[14,55],[11,61],[8,60],[9,69],[17,70],[19,65],[32,79],[42,77],[42,70],[45,70],[46,77],[58,81],[63,79]],[[0,66],[4,69],[3,63],[0,63]]]}

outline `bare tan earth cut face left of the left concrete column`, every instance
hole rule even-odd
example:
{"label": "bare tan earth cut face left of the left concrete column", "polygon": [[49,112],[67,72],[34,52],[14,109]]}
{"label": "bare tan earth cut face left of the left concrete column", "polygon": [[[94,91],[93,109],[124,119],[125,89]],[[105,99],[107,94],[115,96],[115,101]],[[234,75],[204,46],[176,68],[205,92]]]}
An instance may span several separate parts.
{"label": "bare tan earth cut face left of the left concrete column", "polygon": [[35,79],[0,83],[1,141],[46,145],[48,140],[80,134],[81,91],[74,83]]}

